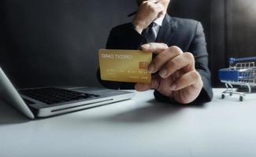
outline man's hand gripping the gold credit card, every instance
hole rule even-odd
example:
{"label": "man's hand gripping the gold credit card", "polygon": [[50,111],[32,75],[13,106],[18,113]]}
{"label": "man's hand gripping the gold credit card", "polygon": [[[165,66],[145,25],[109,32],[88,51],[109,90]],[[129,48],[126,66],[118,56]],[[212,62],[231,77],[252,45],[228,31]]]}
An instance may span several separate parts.
{"label": "man's hand gripping the gold credit card", "polygon": [[[151,73],[158,73],[158,78],[150,84],[138,83],[135,89],[145,91],[157,89],[165,95],[171,91],[184,89],[187,86],[202,88],[201,76],[195,71],[195,57],[191,53],[183,53],[177,46],[168,47],[163,43],[148,43],[142,46],[144,51],[158,53],[149,66]],[[176,76],[176,77],[173,77]]]}

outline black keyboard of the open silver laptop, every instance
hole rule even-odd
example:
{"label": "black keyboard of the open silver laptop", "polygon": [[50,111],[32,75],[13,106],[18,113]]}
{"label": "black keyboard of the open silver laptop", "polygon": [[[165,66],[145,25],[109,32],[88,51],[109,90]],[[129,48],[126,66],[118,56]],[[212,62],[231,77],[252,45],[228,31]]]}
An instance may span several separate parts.
{"label": "black keyboard of the open silver laptop", "polygon": [[68,89],[40,88],[40,89],[21,89],[20,94],[42,101],[45,104],[58,104],[73,100],[85,100],[91,97],[99,97],[95,94],[80,93]]}

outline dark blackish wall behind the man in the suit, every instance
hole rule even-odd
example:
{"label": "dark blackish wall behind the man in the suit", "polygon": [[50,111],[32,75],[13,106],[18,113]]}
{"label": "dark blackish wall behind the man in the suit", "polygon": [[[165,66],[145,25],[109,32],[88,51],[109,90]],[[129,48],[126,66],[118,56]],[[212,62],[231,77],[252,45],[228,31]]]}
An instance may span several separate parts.
{"label": "dark blackish wall behind the man in the suit", "polygon": [[[131,21],[135,0],[1,0],[0,65],[18,87],[100,86],[98,49]],[[213,85],[228,57],[256,56],[256,1],[173,0],[171,16],[205,28]]]}

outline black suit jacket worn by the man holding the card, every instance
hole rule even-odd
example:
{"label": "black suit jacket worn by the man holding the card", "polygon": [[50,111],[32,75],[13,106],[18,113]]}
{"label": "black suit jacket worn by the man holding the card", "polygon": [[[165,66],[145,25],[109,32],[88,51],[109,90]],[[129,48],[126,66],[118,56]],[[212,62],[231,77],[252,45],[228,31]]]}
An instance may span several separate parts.
{"label": "black suit jacket worn by the man holding the card", "polygon": [[[132,23],[114,27],[106,44],[106,49],[140,49],[145,38],[135,31]],[[162,42],[168,46],[179,46],[184,52],[191,52],[195,56],[195,68],[202,77],[203,88],[195,101],[207,102],[212,100],[210,70],[208,68],[208,53],[206,38],[202,24],[195,20],[187,20],[165,15],[162,26],[158,32],[156,42]],[[110,89],[134,89],[134,83],[98,81]],[[163,96],[157,90],[154,92],[157,100],[169,102],[169,97]]]}

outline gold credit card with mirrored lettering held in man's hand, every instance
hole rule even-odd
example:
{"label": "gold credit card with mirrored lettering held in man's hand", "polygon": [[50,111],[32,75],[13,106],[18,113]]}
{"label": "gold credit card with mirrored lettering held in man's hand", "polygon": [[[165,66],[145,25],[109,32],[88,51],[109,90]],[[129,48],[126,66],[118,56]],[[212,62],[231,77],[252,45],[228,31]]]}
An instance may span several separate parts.
{"label": "gold credit card with mirrored lettering held in man's hand", "polygon": [[151,74],[147,68],[152,61],[152,53],[141,50],[99,49],[98,58],[102,80],[151,82]]}

